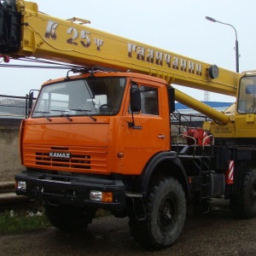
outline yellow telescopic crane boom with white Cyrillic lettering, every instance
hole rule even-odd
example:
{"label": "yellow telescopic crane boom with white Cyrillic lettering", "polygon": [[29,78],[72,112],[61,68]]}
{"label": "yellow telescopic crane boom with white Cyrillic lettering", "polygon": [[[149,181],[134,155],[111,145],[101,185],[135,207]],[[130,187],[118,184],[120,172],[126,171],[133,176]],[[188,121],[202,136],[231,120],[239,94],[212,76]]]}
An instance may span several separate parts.
{"label": "yellow telescopic crane boom with white Cyrillic lettering", "polygon": [[[13,58],[33,56],[82,66],[131,70],[228,96],[236,96],[240,74],[147,44],[120,38],[38,12],[23,0],[0,6],[0,53]],[[11,20],[11,22],[10,22]]]}

